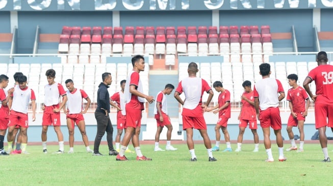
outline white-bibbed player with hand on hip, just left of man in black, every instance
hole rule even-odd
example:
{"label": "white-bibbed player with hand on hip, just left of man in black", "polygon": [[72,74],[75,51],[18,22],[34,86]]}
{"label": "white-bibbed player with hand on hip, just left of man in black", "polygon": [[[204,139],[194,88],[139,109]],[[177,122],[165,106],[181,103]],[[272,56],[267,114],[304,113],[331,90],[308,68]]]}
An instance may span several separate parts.
{"label": "white-bibbed player with hand on hip, just left of man in black", "polygon": [[[83,117],[83,114],[87,113],[87,110],[90,106],[91,100],[88,97],[87,93],[82,90],[74,87],[73,80],[67,79],[65,81],[67,91],[67,102],[66,105],[63,107],[64,113],[66,114],[67,119],[67,128],[69,133],[69,151],[68,153],[74,152],[74,123],[78,126],[81,135],[83,143],[86,146],[86,150],[89,153],[92,153],[93,151],[90,150],[89,147],[89,141],[86,133],[86,123]],[[84,110],[82,110],[82,99],[85,99],[87,101],[87,106]],[[67,110],[66,110],[67,107]]]}

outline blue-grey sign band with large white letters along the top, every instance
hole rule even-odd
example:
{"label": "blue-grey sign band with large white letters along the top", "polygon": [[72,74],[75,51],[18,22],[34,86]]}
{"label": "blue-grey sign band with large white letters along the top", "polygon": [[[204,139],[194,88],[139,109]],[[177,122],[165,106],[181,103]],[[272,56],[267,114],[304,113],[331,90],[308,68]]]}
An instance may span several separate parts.
{"label": "blue-grey sign band with large white letters along the top", "polygon": [[0,11],[156,11],[332,8],[333,0],[0,0]]}

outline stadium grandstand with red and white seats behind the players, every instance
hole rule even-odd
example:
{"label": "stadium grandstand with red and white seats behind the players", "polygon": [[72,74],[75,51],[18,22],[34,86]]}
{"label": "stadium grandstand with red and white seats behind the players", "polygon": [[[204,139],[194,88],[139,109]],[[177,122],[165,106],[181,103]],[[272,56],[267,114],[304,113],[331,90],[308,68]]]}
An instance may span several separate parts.
{"label": "stadium grandstand with red and white seats behind the players", "polygon": [[[72,79],[76,88],[87,92],[92,100],[85,116],[89,131],[89,127],[96,125],[93,111],[101,74],[112,74],[111,95],[120,89],[120,81],[132,70],[131,56],[141,54],[146,68],[140,77],[147,95],[156,96],[167,83],[176,86],[188,75],[187,66],[192,61],[198,64],[198,75],[211,85],[222,81],[231,94],[229,132],[231,139],[236,139],[242,82],[249,80],[253,87],[261,79],[260,64],[270,63],[271,76],[279,79],[287,91],[287,76],[297,74],[301,85],[308,72],[317,66],[318,51],[326,51],[329,60],[333,57],[331,1],[68,0],[62,4],[48,0],[19,1],[19,5],[14,3],[17,1],[6,2],[0,4],[0,74],[6,74],[10,84],[14,83],[15,72],[28,77],[29,86],[36,92],[38,113],[37,120],[30,123],[37,129],[41,128],[47,69],[56,71],[56,81],[64,87],[65,80]],[[311,89],[315,90],[314,84]],[[217,104],[218,93],[214,93],[211,106]],[[204,95],[202,101],[207,98]],[[184,140],[183,133],[177,134],[182,129],[182,108],[173,96],[168,96],[168,102],[174,129],[172,139]],[[153,104],[146,103],[145,107],[140,137],[153,140]],[[286,99],[280,103],[280,109],[286,125],[290,114]],[[312,102],[305,121],[306,139],[315,132],[313,109]],[[217,116],[204,116],[209,134],[214,135]],[[111,118],[115,123],[114,108]],[[62,122],[65,123],[64,115]],[[37,130],[37,136],[39,133]],[[29,135],[29,140],[40,141],[33,132]],[[88,135],[93,139],[94,134]],[[287,137],[286,131],[283,135]],[[160,139],[166,139],[166,131]],[[250,132],[245,133],[244,139],[251,139]]]}

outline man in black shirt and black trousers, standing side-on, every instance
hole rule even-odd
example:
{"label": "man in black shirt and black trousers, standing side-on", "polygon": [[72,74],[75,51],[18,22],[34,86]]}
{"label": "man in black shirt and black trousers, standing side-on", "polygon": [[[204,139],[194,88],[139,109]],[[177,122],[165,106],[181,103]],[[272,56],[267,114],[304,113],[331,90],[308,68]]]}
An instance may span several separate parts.
{"label": "man in black shirt and black trousers, standing side-on", "polygon": [[113,143],[112,143],[113,127],[109,116],[110,95],[108,92],[108,88],[109,85],[111,85],[112,83],[111,73],[109,72],[103,73],[102,80],[103,82],[101,82],[98,85],[98,90],[97,90],[97,108],[95,111],[95,118],[97,121],[97,134],[94,143],[94,153],[92,155],[103,156],[103,154],[99,153],[99,144],[105,132],[107,132],[109,155],[116,156],[118,152],[113,148]]}

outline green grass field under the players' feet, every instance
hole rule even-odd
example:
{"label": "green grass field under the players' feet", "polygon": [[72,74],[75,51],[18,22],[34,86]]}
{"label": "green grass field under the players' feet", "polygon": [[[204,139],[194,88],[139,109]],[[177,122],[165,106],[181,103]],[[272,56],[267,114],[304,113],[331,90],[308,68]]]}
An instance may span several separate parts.
{"label": "green grass field under the players' feet", "polygon": [[[333,163],[321,162],[319,144],[305,144],[302,153],[285,152],[286,162],[277,161],[274,144],[273,163],[264,161],[267,156],[263,144],[259,152],[251,152],[252,144],[243,144],[242,152],[213,152],[217,162],[208,162],[203,144],[195,146],[197,162],[190,162],[185,144],[173,146],[178,150],[154,152],[153,145],[141,145],[143,154],[152,158],[149,162],[136,161],[135,153],[126,154],[131,160],[128,162],[117,162],[114,156],[92,156],[83,145],[74,146],[73,154],[52,154],[58,145],[49,145],[47,154],[41,152],[41,146],[28,146],[31,154],[0,156],[1,184],[331,185],[333,181]],[[100,146],[100,152],[108,154],[107,146]]]}

